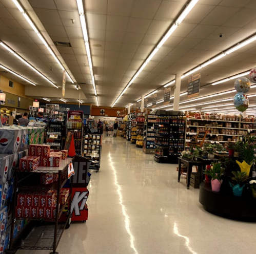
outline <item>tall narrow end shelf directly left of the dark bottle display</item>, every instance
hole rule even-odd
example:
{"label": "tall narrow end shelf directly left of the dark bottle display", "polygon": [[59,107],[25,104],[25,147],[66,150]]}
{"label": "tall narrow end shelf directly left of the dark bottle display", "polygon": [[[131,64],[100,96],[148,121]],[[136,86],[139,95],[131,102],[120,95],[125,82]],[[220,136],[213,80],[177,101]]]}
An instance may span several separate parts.
{"label": "tall narrow end shelf directly left of the dark bottle display", "polygon": [[148,114],[145,116],[143,129],[143,152],[145,154],[153,154],[155,150],[155,124],[157,115]]}

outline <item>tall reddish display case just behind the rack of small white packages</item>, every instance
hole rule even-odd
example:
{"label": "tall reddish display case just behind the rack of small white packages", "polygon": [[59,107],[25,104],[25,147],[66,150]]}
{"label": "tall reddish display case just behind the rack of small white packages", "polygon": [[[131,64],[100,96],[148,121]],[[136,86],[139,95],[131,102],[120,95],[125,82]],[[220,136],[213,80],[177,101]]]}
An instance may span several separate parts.
{"label": "tall reddish display case just behind the rack of small white packages", "polygon": [[84,133],[84,113],[83,111],[68,111],[67,133],[73,133],[75,153],[84,155],[83,149],[83,133]]}

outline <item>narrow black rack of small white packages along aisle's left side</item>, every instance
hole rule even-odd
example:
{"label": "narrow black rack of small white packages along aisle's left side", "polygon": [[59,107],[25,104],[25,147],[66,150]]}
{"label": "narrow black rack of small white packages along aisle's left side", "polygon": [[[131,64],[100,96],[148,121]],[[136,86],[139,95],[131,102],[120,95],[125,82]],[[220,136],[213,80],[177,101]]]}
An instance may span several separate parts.
{"label": "narrow black rack of small white packages along aisle's left side", "polygon": [[84,156],[92,160],[89,170],[98,172],[101,167],[102,134],[86,134]]}

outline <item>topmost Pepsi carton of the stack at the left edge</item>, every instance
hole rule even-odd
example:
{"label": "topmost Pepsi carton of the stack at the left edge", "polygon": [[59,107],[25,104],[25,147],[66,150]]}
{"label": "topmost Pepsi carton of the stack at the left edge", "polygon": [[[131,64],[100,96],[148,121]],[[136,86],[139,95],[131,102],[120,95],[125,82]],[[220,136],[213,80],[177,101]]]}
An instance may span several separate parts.
{"label": "topmost Pepsi carton of the stack at the left edge", "polygon": [[0,129],[0,153],[15,154],[21,151],[22,130],[1,128]]}

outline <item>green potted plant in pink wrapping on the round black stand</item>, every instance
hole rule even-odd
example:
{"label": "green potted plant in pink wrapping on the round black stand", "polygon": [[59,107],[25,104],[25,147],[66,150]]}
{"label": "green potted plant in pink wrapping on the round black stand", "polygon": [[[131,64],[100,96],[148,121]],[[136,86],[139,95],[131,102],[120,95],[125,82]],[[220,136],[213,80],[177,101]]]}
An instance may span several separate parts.
{"label": "green potted plant in pink wrapping on the round black stand", "polygon": [[221,163],[213,163],[209,170],[205,171],[205,175],[211,176],[211,190],[213,192],[220,192],[222,184],[222,174],[224,168],[221,167]]}

